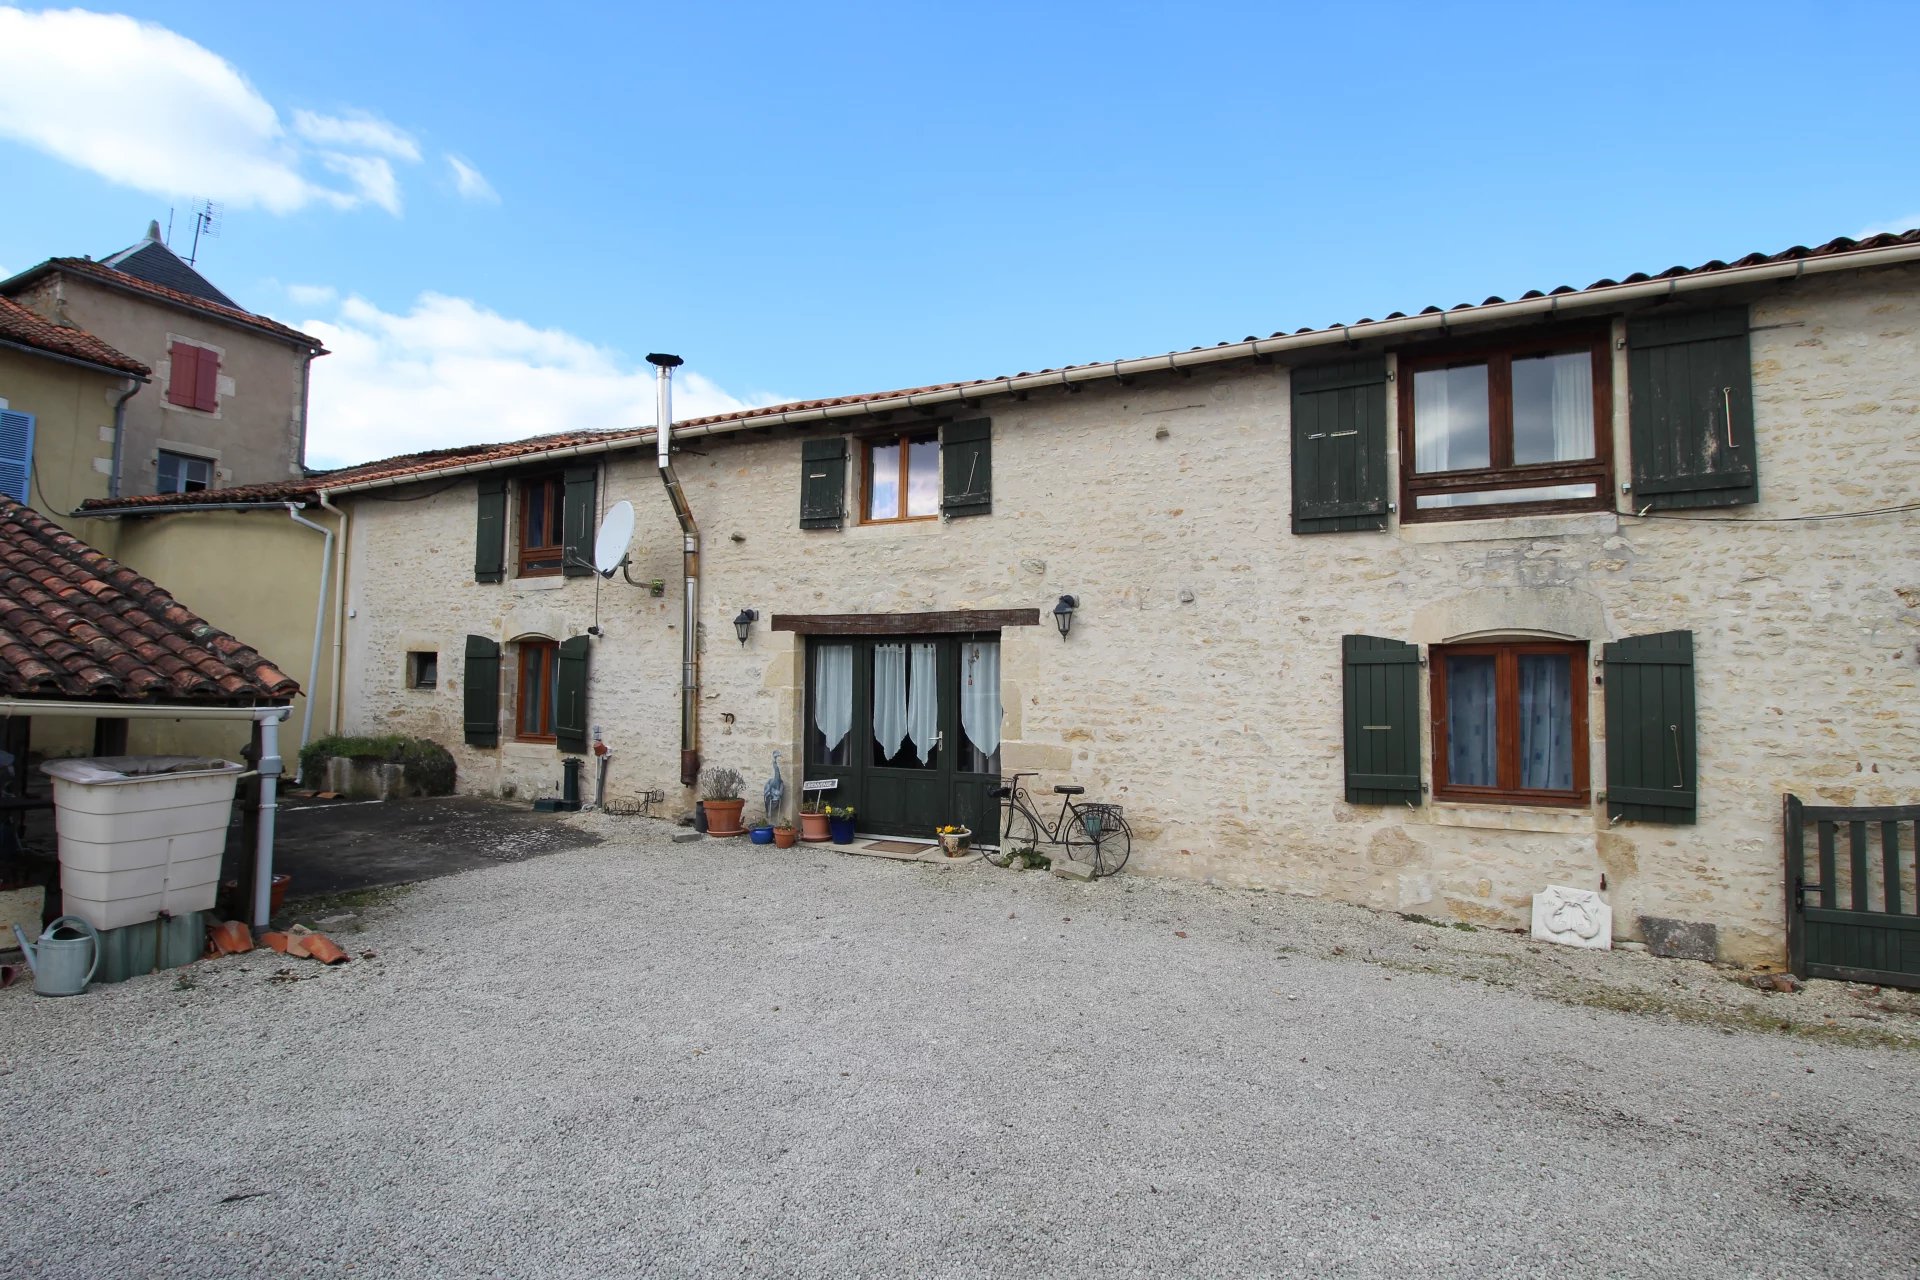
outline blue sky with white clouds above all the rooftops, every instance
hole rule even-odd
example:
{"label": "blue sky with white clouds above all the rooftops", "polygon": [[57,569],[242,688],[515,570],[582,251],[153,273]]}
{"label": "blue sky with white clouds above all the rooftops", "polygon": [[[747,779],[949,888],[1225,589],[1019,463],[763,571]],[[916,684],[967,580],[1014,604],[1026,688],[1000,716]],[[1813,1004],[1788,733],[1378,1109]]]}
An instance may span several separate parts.
{"label": "blue sky with white clouds above all the rooftops", "polygon": [[0,8],[0,269],[221,200],[315,464],[1920,225],[1912,4],[100,13]]}

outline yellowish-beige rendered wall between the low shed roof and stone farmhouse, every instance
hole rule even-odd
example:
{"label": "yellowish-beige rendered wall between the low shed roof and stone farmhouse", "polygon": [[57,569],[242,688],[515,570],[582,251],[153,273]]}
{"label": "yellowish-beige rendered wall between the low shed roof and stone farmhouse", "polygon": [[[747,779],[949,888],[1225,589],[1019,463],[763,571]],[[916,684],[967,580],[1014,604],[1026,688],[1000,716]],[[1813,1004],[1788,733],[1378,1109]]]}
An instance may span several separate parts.
{"label": "yellowish-beige rendered wall between the low shed roof and stone farmhouse", "polygon": [[[315,524],[332,526],[321,510],[303,510]],[[92,524],[111,524],[94,520]],[[286,510],[204,510],[177,516],[119,520],[119,555],[129,568],[152,578],[177,601],[213,626],[259,649],[275,666],[309,685],[313,610],[319,604],[324,537],[294,524]],[[313,735],[326,733],[332,712],[332,618],[321,637],[321,677],[313,708]],[[294,714],[280,729],[288,771],[296,768],[300,727],[307,695],[294,699]],[[234,754],[248,745],[244,723],[192,720],[134,720],[129,750],[136,754]]]}

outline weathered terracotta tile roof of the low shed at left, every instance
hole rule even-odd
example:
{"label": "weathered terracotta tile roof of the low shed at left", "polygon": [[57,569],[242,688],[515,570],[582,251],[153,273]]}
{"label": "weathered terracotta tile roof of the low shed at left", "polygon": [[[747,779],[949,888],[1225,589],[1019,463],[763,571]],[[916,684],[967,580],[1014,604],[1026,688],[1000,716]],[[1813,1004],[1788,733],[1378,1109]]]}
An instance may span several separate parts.
{"label": "weathered terracotta tile roof of the low shed at left", "polygon": [[259,651],[0,497],[0,693],[250,704],[298,691]]}

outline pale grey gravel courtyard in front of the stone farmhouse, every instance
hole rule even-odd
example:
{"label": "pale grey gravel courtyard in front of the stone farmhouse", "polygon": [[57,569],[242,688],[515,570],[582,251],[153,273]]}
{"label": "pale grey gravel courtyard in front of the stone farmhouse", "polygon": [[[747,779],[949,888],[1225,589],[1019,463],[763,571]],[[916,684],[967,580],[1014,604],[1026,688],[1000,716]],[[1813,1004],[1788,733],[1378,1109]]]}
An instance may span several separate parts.
{"label": "pale grey gravel courtyard in front of the stone farmhouse", "polygon": [[574,821],[0,992],[0,1274],[1920,1274],[1910,996]]}

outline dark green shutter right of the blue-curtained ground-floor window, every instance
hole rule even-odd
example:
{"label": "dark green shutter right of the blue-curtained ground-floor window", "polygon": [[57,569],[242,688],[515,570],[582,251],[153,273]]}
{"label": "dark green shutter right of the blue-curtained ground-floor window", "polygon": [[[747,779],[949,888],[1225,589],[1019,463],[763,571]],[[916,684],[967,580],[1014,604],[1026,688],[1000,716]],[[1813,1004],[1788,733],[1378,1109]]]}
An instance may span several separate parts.
{"label": "dark green shutter right of the blue-curtained ground-floor window", "polygon": [[1692,823],[1693,633],[1632,635],[1605,647],[1607,818]]}

